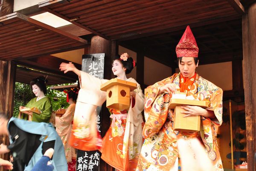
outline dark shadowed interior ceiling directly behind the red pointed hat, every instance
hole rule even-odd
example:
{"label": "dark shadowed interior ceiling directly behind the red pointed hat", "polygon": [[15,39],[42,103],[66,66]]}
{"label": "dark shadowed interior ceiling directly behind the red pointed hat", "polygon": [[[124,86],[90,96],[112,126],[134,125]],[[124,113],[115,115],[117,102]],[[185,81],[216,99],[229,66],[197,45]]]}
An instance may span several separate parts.
{"label": "dark shadowed interior ceiling directly behind the red pointed hat", "polygon": [[[170,67],[177,67],[175,47],[183,30],[120,41],[122,46],[134,51],[143,51],[145,56],[154,55],[154,60]],[[241,19],[191,28],[198,44],[200,64],[227,62],[242,59]]]}

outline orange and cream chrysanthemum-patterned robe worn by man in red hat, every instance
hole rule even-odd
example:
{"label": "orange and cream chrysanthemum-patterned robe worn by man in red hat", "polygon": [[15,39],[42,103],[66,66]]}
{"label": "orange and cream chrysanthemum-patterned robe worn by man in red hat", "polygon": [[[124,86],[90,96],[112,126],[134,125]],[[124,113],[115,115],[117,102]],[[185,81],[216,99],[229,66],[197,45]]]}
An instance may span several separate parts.
{"label": "orange and cream chrysanthemum-patterned robe worn by man in red hat", "polygon": [[[177,139],[197,137],[205,145],[209,158],[215,165],[216,171],[223,171],[222,162],[217,145],[218,126],[222,123],[222,93],[213,83],[200,77],[195,77],[187,96],[192,95],[198,100],[209,100],[207,110],[214,111],[215,120],[201,117],[202,125],[198,133],[186,133],[173,130],[174,111],[168,109],[171,94],[158,94],[161,86],[168,83],[180,88],[180,74],[174,74],[145,89],[144,114],[146,123],[143,136],[146,138],[140,153],[137,171],[170,171],[178,157]],[[179,167],[180,169],[180,167]]]}

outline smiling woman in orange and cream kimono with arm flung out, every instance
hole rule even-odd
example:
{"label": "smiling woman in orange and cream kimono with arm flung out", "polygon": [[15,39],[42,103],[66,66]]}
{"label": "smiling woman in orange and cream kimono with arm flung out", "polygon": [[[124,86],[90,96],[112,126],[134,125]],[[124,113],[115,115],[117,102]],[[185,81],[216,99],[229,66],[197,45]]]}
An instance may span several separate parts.
{"label": "smiling woman in orange and cream kimono with arm flung out", "polygon": [[[125,53],[115,58],[112,71],[118,79],[137,83],[133,78],[126,77],[126,74],[129,74],[135,66],[135,61]],[[61,63],[60,69],[64,72],[74,71],[79,75],[81,78],[81,89],[84,89],[83,91],[90,91],[90,93],[87,93],[87,96],[83,97],[84,101],[86,99],[93,101],[99,96],[102,99],[103,96],[106,98],[106,93],[100,91],[99,88],[101,84],[108,80],[100,80],[92,77],[86,72],[76,69],[73,64]],[[115,109],[109,110],[111,112],[112,123],[102,140],[102,159],[120,171],[134,170],[137,165],[138,156],[143,144],[143,117],[141,114],[144,105],[143,97],[143,92],[137,83],[137,89],[131,91],[131,106],[129,109],[121,111]]]}

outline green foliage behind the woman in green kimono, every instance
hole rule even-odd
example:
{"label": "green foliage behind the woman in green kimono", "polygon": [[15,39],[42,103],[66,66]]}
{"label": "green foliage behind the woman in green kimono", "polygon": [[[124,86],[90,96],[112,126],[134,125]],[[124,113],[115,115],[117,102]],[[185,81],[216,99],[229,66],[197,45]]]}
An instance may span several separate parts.
{"label": "green foliage behind the woman in green kimono", "polygon": [[[50,87],[47,86],[46,96],[51,99],[53,111],[56,111],[59,108],[67,108],[69,106],[69,104],[66,102],[66,94],[64,92],[51,90]],[[19,107],[25,106],[29,100],[34,97],[35,95],[32,93],[28,84],[16,82],[13,116],[17,117],[19,114]]]}

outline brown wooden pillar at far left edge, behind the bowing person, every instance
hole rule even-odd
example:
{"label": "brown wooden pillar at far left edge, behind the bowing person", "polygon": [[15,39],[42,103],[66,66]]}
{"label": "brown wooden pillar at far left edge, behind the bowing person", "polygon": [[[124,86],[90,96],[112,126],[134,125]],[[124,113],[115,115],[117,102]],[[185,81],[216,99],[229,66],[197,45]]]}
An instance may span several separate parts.
{"label": "brown wooden pillar at far left edge, behind the bowing person", "polygon": [[[13,61],[0,61],[0,112],[12,117],[15,93],[16,64]],[[9,138],[0,136],[0,144],[9,143]],[[8,154],[0,155],[8,160]]]}

